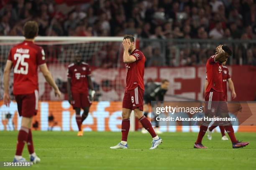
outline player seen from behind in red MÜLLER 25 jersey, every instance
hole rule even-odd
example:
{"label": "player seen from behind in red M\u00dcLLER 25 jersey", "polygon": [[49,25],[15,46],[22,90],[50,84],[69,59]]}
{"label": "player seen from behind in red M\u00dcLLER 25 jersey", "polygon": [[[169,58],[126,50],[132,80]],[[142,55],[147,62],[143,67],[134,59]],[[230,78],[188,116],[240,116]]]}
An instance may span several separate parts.
{"label": "player seen from behind in red M\u00dcLLER 25 jersey", "polygon": [[27,143],[30,161],[38,163],[40,162],[40,159],[34,152],[31,133],[32,118],[36,115],[38,108],[38,67],[43,73],[46,81],[54,88],[55,95],[60,97],[61,92],[47,68],[43,48],[34,44],[34,38],[38,35],[37,23],[34,21],[25,23],[23,34],[26,39],[10,49],[8,60],[5,65],[3,101],[5,105],[9,106],[9,80],[10,72],[13,67],[13,94],[15,95],[18,105],[19,115],[22,116],[16,154],[13,162],[26,161],[21,155],[24,145]]}

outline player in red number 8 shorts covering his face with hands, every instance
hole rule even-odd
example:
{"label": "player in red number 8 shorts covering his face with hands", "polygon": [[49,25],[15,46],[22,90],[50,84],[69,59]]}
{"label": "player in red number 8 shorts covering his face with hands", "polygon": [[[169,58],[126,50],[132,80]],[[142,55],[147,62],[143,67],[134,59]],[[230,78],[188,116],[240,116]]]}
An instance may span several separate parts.
{"label": "player in red number 8 shorts covering his face with hands", "polygon": [[130,115],[134,110],[135,117],[139,119],[143,127],[151,134],[153,141],[152,147],[149,149],[156,149],[162,140],[159,138],[150,121],[143,115],[143,93],[144,93],[144,54],[134,47],[134,37],[132,35],[125,35],[123,37],[123,62],[126,63],[128,69],[126,76],[126,88],[123,97],[122,109],[122,140],[118,145],[110,147],[111,149],[127,149],[127,137],[130,129]]}

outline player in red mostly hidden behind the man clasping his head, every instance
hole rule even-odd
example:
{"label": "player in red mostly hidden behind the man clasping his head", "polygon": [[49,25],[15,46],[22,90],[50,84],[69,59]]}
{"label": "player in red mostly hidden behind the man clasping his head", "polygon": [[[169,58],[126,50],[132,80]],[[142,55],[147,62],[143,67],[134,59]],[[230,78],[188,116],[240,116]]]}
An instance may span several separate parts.
{"label": "player in red mostly hidden behind the man clasping his head", "polygon": [[[224,97],[225,97],[226,100],[228,100],[228,89],[227,89],[227,82],[228,82],[229,88],[230,88],[230,90],[232,92],[232,98],[234,99],[234,98],[236,98],[236,92],[235,92],[234,83],[231,80],[231,77],[229,75],[228,67],[226,67],[225,65],[226,65],[226,61],[222,63],[222,66],[223,66],[222,88],[223,88],[223,92],[224,92]],[[205,90],[206,90],[207,85],[208,85],[208,81],[207,81],[207,77],[206,77]],[[209,140],[212,140],[212,130],[214,128],[216,128],[216,127],[217,126],[215,126],[215,124],[213,123],[213,125],[210,128],[207,129],[207,138]],[[225,135],[225,128],[224,128],[224,126],[219,126],[219,128],[220,128],[220,133],[222,135],[221,140],[228,140],[227,136]]]}

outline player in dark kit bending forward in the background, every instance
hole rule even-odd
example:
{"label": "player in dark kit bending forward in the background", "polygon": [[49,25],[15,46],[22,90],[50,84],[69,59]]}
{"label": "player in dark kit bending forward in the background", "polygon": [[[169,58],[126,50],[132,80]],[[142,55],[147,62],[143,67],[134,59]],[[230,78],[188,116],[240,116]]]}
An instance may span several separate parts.
{"label": "player in dark kit bending forward in the background", "polygon": [[[145,88],[145,93],[144,93],[144,116],[148,117],[148,111],[149,107],[151,107],[151,101],[160,101],[159,104],[161,104],[162,101],[164,101],[164,95],[166,94],[168,87],[170,83],[169,80],[162,80],[161,83],[159,82],[149,82]],[[159,129],[159,122],[156,121],[154,118],[154,121],[156,123],[156,133],[161,134],[161,130]],[[143,128],[141,130],[141,133],[147,133],[148,131]]]}

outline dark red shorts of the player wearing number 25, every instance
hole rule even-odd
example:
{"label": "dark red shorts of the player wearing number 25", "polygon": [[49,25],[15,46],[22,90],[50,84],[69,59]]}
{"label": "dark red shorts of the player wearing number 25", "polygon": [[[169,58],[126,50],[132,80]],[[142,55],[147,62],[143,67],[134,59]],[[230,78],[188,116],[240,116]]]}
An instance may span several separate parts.
{"label": "dark red shorts of the player wearing number 25", "polygon": [[38,110],[38,90],[31,94],[15,95],[15,100],[20,116],[33,117],[33,115],[36,115]]}

